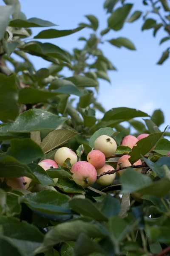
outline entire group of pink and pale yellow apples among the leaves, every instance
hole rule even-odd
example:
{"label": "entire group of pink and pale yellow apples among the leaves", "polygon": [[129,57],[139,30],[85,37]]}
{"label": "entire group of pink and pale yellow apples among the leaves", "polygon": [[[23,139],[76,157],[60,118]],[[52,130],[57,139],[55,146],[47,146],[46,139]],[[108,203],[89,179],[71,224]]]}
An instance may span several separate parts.
{"label": "entire group of pink and pale yellow apples among the leaves", "polygon": [[[128,146],[132,149],[133,146],[136,146],[136,143],[139,140],[147,136],[149,136],[149,134],[141,134],[137,138],[132,135],[128,135],[122,139],[121,145]],[[107,135],[101,135],[95,140],[94,149],[89,152],[87,161],[78,161],[77,154],[74,153],[74,151],[72,151],[70,148],[62,147],[56,151],[54,160],[45,159],[42,160],[39,165],[45,171],[51,168],[59,168],[64,166],[65,160],[69,158],[72,165],[72,177],[74,181],[76,181],[79,185],[82,185],[85,188],[96,182],[102,186],[108,186],[115,179],[116,173],[111,175],[103,175],[97,180],[96,177],[97,175],[100,175],[103,172],[107,172],[108,170],[114,170],[112,166],[106,164],[106,158],[112,157],[116,152],[116,149],[116,141],[113,138]],[[120,167],[131,166],[131,163],[128,160],[129,158],[130,156],[127,154],[120,157],[117,163],[117,169]],[[140,164],[142,164],[141,160],[138,160],[136,163],[134,163],[134,165]],[[142,171],[142,169],[136,170],[138,172]],[[124,171],[125,169],[119,170],[119,175],[121,175]],[[1,180],[3,179],[1,178]],[[56,184],[57,181],[58,178],[55,178],[54,183]],[[28,177],[7,179],[8,186],[11,186],[12,188],[28,189],[30,183],[31,179]]]}

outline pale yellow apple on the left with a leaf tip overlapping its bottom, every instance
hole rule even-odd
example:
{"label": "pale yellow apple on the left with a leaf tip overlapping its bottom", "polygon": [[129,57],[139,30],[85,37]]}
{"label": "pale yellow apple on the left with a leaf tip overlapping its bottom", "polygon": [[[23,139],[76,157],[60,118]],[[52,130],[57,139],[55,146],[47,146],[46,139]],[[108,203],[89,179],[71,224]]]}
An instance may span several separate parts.
{"label": "pale yellow apple on the left with a leaf tip overlapping its bottom", "polygon": [[72,151],[70,148],[59,148],[54,156],[54,160],[56,161],[56,163],[61,166],[67,158],[70,158],[71,165],[77,162],[77,154],[74,153],[74,151]]}

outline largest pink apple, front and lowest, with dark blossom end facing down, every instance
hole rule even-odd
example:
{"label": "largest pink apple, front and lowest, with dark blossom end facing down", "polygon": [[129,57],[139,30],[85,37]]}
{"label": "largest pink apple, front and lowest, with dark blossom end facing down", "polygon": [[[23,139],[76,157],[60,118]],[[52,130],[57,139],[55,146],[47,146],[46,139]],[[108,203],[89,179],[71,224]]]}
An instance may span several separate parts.
{"label": "largest pink apple, front and lowest, with dark blossom end facing down", "polygon": [[97,178],[96,169],[91,163],[86,161],[74,163],[71,168],[71,172],[73,172],[72,177],[74,181],[84,188],[91,186]]}

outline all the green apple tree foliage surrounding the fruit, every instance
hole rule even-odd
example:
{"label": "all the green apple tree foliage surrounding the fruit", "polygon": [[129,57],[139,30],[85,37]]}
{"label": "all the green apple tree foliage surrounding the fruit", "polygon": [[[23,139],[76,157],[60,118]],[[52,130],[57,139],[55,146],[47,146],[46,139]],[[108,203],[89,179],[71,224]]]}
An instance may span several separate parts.
{"label": "all the green apple tree foliage surrounding the fruit", "polygon": [[[75,29],[57,30],[51,29],[56,25],[49,21],[27,19],[18,0],[4,2],[0,6],[0,255],[164,255],[170,244],[170,141],[164,138],[170,133],[160,130],[164,114],[156,110],[149,116],[125,107],[106,112],[96,93],[99,79],[110,82],[108,70],[116,70],[101,44],[135,50],[129,38],[110,35],[142,16],[142,30],[153,29],[155,36],[164,28],[168,35],[160,44],[168,41],[168,1],[143,0],[148,10],[142,13],[126,0],[106,0],[108,27],[102,31],[94,15],[86,15],[88,23],[79,23]],[[153,13],[159,20],[149,17]],[[42,31],[30,39],[33,27]],[[39,41],[83,29],[91,34],[79,37],[84,47],[72,52]],[[169,49],[158,64],[168,58]],[[16,61],[16,55],[22,61]],[[30,55],[50,65],[36,70]],[[66,77],[65,69],[72,76]],[[98,111],[102,119],[96,118]],[[125,121],[127,128],[122,125]],[[122,137],[144,133],[150,135],[133,149],[121,146]],[[142,160],[142,174],[129,168],[119,178],[115,171],[110,186],[94,183],[84,189],[73,180],[69,159],[65,166],[46,172],[38,165],[43,159],[54,160],[62,145],[72,148],[79,160],[87,160],[102,134],[113,137],[118,145],[106,164],[116,169],[119,158],[129,154],[132,164]],[[31,178],[28,189],[8,184],[19,177]],[[56,184],[54,178],[59,179]],[[46,189],[32,192],[37,184]]]}

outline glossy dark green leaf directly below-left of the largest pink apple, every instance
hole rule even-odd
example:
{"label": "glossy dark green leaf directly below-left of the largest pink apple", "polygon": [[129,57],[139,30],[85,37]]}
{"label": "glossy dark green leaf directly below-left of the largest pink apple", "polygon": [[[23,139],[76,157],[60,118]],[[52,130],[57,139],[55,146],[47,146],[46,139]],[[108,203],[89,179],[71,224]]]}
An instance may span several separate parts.
{"label": "glossy dark green leaf directly below-left of the largest pink apple", "polygon": [[57,181],[56,186],[63,192],[67,192],[67,193],[74,193],[74,194],[85,193],[85,189],[82,186],[77,184],[74,180],[70,180],[68,178],[59,179]]}

